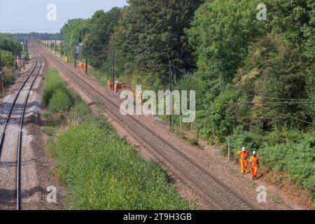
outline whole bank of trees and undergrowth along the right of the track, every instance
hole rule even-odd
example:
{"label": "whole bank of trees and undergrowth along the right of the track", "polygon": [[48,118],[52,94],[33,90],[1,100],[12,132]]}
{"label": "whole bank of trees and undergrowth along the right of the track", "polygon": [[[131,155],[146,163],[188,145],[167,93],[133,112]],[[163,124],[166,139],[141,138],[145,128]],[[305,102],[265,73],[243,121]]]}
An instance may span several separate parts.
{"label": "whole bank of trees and undergrowth along the right of the track", "polygon": [[196,121],[184,128],[210,143],[230,140],[232,152],[255,148],[265,168],[288,174],[314,201],[315,3],[267,0],[267,21],[257,20],[258,3],[130,0],[63,32],[93,49],[102,82],[113,50],[116,75],[144,89],[167,88],[172,60],[174,88],[197,90]]}

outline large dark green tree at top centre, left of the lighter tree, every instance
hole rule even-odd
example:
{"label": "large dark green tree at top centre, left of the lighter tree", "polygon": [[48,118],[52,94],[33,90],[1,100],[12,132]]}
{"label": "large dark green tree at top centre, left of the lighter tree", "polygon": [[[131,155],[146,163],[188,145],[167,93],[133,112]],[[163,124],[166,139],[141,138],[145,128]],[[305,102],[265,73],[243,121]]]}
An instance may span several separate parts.
{"label": "large dark green tree at top centre, left of the lighter tree", "polygon": [[194,67],[192,49],[184,33],[201,0],[130,0],[113,45],[132,66],[168,64]]}

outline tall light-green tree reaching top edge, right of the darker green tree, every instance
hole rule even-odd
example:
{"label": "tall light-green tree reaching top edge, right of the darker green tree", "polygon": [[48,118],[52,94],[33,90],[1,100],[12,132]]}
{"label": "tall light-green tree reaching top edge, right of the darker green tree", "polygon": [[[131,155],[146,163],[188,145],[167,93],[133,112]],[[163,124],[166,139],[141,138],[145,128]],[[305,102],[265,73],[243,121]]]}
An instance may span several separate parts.
{"label": "tall light-green tree reaching top edge, right of the darker green tree", "polygon": [[187,30],[197,56],[197,75],[204,80],[232,80],[246,58],[248,44],[266,33],[258,21],[260,1],[207,1],[198,8]]}

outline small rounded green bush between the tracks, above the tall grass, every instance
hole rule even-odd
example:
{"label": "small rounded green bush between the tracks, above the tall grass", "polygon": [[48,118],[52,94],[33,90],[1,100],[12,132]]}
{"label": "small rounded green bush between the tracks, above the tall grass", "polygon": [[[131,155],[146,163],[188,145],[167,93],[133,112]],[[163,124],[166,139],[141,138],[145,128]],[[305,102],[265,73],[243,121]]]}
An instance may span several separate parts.
{"label": "small rounded green bush between the tracks, above the tall grass", "polygon": [[64,90],[57,90],[49,101],[48,109],[52,112],[68,111],[72,106],[71,99]]}

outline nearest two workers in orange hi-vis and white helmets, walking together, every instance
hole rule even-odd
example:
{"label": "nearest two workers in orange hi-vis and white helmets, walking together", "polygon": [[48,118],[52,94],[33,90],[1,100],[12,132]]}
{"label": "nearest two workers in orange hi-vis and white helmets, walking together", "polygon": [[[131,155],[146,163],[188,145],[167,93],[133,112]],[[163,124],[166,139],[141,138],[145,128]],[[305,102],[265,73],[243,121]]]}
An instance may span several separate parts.
{"label": "nearest two workers in orange hi-vis and white helmets, walking together", "polygon": [[[248,167],[248,158],[249,158],[249,151],[246,150],[245,147],[241,149],[241,151],[237,152],[237,155],[239,155],[239,162],[241,164],[241,174],[244,176],[246,173],[246,169]],[[257,180],[257,174],[259,169],[259,159],[256,155],[256,152],[253,151],[253,154],[249,158],[249,172],[251,173],[251,178],[253,181]]]}

